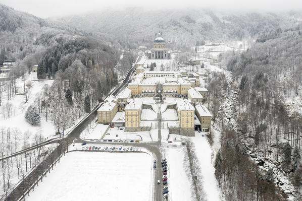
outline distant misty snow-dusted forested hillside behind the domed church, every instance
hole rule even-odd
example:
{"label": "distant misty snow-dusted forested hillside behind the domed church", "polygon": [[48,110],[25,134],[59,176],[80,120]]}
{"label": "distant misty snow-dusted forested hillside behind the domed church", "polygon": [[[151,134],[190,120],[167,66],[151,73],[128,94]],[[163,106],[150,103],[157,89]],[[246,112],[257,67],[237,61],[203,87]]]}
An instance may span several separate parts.
{"label": "distant misty snow-dusted forested hillside behind the domed church", "polygon": [[275,14],[230,14],[193,9],[147,11],[132,8],[71,16],[58,21],[95,34],[113,36],[116,38],[113,44],[128,48],[149,46],[158,32],[171,47],[188,47],[203,40],[225,42],[254,38],[283,25]]}

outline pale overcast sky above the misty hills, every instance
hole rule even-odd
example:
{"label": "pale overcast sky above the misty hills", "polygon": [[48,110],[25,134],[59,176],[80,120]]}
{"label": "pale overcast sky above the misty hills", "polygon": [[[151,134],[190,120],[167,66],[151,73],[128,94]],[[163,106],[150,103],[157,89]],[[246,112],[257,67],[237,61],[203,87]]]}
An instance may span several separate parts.
{"label": "pale overcast sky above the misty hills", "polygon": [[302,0],[0,0],[0,3],[41,18],[97,12],[102,9],[211,8],[218,10],[287,12],[302,10]]}

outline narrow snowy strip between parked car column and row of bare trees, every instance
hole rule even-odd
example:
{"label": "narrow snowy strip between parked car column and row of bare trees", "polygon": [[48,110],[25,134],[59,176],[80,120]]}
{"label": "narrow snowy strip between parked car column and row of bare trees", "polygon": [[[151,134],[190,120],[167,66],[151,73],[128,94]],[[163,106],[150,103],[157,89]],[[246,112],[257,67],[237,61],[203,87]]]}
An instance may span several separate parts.
{"label": "narrow snowy strip between parked car column and row of bare trees", "polygon": [[169,200],[193,200],[191,197],[191,182],[184,167],[185,153],[183,148],[168,148],[166,157],[168,163]]}

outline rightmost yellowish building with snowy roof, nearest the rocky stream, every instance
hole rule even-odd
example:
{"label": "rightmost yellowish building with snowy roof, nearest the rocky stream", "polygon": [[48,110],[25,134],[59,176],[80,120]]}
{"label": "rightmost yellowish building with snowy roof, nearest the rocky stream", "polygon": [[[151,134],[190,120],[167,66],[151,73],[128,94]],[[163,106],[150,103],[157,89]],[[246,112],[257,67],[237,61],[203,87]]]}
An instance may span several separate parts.
{"label": "rightmost yellowish building with snowy roof, nearest the rocky stream", "polygon": [[200,121],[201,128],[203,132],[210,131],[211,129],[211,118],[212,114],[209,110],[202,104],[196,104],[196,115]]}

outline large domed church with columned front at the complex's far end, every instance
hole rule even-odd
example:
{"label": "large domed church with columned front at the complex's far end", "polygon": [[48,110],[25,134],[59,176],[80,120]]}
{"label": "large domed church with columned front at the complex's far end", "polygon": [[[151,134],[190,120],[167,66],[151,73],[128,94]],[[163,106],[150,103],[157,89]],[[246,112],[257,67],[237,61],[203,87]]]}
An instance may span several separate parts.
{"label": "large domed church with columned front at the complex's far end", "polygon": [[148,51],[149,59],[170,59],[171,53],[168,51],[166,47],[165,40],[161,37],[159,33],[159,37],[154,40],[153,48]]}

